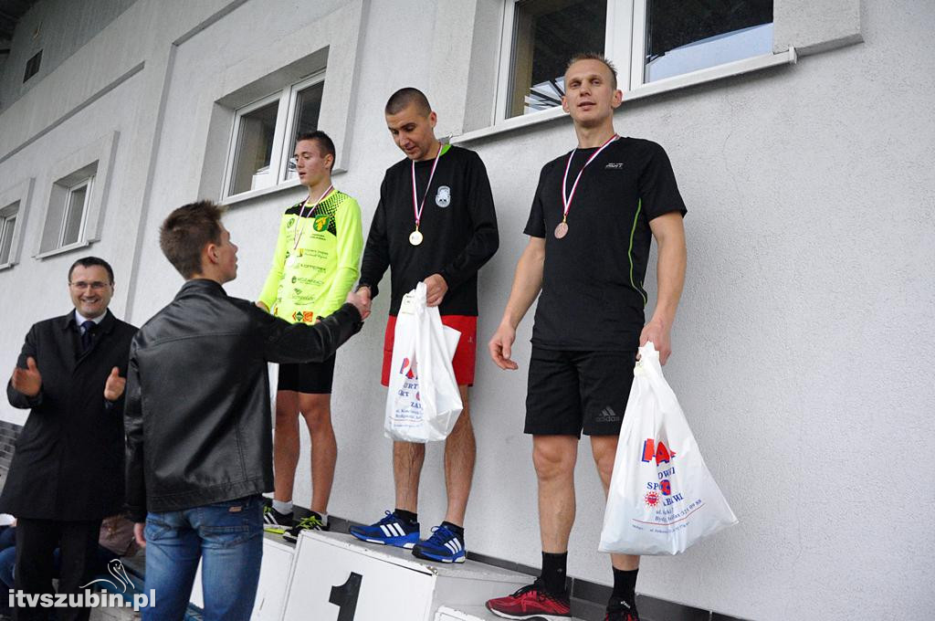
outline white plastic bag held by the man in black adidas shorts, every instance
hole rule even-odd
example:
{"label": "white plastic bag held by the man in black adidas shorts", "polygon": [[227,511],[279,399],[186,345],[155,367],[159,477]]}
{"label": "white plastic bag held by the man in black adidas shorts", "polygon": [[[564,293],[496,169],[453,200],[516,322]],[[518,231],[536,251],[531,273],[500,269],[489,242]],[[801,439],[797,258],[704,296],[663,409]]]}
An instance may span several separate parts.
{"label": "white plastic bag held by the man in black adidas shorts", "polygon": [[737,517],[705,466],[652,342],[640,347],[633,376],[598,549],[675,555]]}

